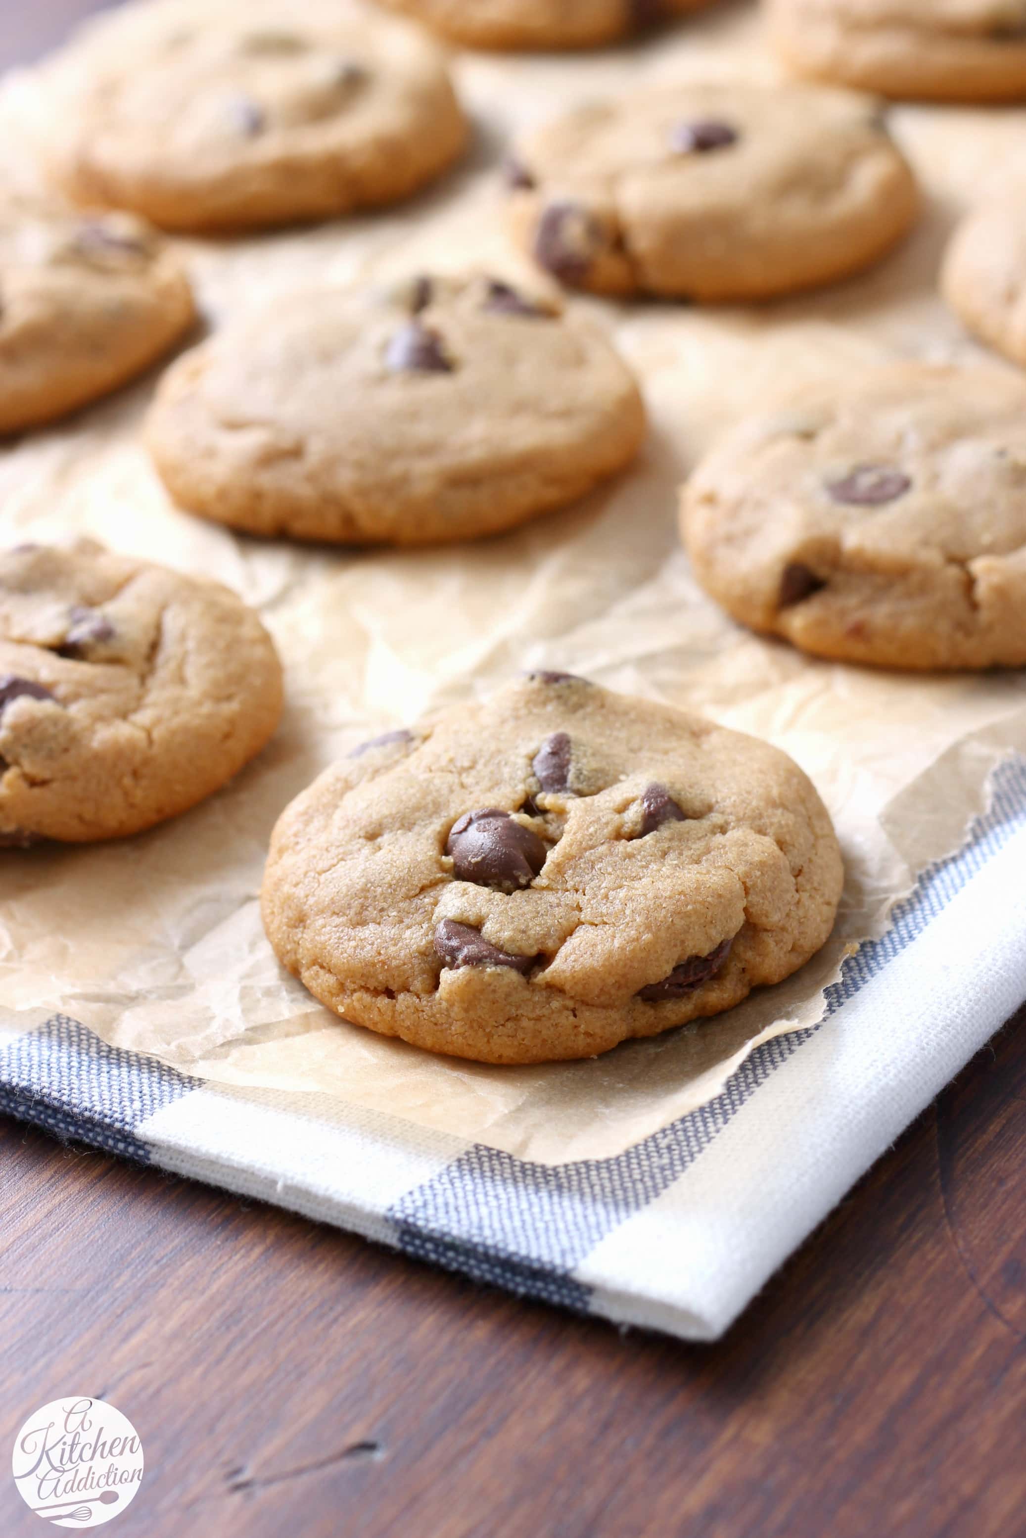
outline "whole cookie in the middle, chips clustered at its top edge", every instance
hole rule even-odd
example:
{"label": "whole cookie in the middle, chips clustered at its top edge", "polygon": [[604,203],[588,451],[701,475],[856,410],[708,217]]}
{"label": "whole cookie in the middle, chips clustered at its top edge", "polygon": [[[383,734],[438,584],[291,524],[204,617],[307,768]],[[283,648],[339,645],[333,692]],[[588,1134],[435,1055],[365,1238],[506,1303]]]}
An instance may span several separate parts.
{"label": "whole cookie in the middle, chips clustered at its top edge", "polygon": [[488,277],[260,311],[168,371],[148,426],[194,512],[397,544],[521,523],[620,469],[643,434],[605,337]]}

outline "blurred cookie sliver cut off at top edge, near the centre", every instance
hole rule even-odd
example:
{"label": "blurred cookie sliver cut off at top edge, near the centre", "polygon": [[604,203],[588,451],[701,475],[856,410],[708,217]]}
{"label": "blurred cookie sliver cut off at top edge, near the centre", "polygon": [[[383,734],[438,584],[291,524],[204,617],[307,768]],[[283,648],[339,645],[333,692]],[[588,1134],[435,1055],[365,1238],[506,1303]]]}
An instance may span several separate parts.
{"label": "blurred cookie sliver cut off at top edge, near the centre", "polygon": [[385,0],[469,48],[594,48],[711,0]]}

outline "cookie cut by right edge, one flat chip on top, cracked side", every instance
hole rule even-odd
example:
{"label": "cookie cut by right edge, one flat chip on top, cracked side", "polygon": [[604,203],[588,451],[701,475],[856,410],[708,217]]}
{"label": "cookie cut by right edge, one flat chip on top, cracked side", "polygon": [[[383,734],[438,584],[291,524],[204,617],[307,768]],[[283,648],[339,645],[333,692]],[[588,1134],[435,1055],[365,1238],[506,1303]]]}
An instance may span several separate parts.
{"label": "cookie cut by right edge, one flat chip on top, cracked side", "polygon": [[1026,381],[898,363],[738,424],[683,492],[737,620],[889,667],[1026,663]]}

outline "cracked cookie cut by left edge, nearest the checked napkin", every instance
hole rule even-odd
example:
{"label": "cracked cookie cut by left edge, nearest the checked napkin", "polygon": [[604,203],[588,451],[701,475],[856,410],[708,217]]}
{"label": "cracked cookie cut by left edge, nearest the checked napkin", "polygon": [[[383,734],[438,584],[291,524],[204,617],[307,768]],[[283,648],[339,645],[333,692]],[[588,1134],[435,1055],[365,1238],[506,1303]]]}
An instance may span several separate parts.
{"label": "cracked cookie cut by left edge, nearest the checked napkin", "polygon": [[271,638],[226,588],[91,540],[0,554],[0,846],[174,817],[280,712]]}

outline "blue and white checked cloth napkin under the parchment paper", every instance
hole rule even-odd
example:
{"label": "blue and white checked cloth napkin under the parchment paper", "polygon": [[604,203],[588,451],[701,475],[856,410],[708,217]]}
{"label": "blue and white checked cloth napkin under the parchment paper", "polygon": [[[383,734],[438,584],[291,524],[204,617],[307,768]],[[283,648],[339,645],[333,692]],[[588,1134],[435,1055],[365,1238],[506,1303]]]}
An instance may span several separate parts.
{"label": "blue and white checked cloth napkin under the parchment paper", "polygon": [[326,1097],[206,1084],[65,1015],[0,1026],[0,1109],[511,1292],[714,1340],[1026,998],[1024,869],[1011,760],[823,1023],[617,1158],[531,1164]]}

